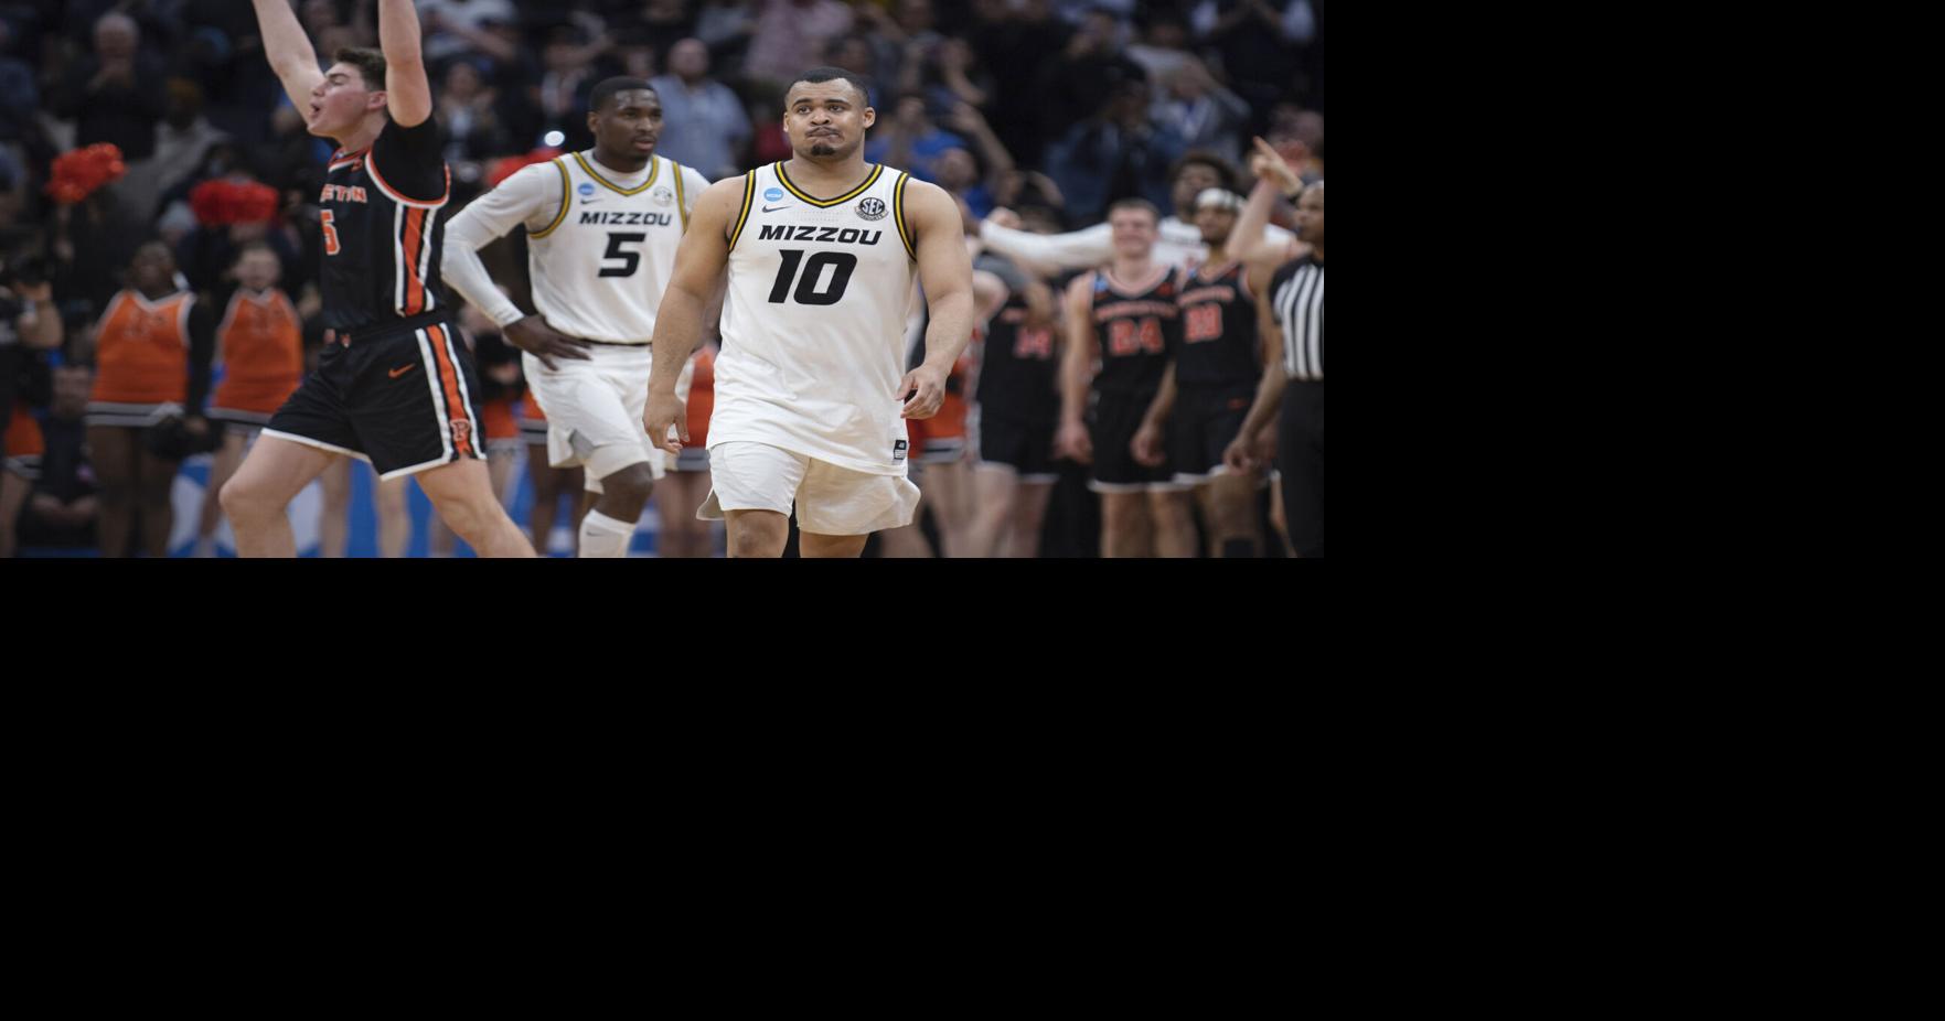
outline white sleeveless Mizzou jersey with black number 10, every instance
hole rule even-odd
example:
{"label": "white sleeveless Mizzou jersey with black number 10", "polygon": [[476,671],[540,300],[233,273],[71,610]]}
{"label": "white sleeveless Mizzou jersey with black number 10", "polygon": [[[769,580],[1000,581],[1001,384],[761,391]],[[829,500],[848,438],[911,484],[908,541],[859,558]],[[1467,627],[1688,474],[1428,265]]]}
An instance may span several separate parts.
{"label": "white sleeveless Mizzou jersey with black number 10", "polygon": [[904,317],[918,272],[902,171],[813,198],[784,163],[749,171],[729,235],[729,292],[710,447],[768,443],[904,475]]}

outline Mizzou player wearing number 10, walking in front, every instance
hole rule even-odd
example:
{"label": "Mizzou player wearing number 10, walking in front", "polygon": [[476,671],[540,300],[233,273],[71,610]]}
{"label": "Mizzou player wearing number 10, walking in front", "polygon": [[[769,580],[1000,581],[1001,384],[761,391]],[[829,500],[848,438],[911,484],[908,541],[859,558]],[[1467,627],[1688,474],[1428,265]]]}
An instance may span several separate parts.
{"label": "Mizzou player wearing number 10, walking in front", "polygon": [[[782,556],[792,508],[803,556],[858,556],[918,504],[904,420],[945,399],[972,333],[972,264],[943,189],[864,161],[875,119],[856,74],[799,74],[784,99],[792,158],[702,193],[661,298],[644,424],[681,453],[675,383],[727,266],[698,513],[727,521],[729,556]],[[926,362],[901,373],[914,274],[932,323]]]}

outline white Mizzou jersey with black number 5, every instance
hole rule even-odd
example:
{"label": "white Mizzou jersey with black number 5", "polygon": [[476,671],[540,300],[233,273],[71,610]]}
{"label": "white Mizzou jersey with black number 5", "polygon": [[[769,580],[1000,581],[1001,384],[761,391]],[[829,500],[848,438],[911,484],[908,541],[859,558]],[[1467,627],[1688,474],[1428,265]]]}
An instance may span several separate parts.
{"label": "white Mizzou jersey with black number 5", "polygon": [[570,336],[648,344],[675,247],[708,181],[659,156],[634,175],[580,152],[554,159],[554,169],[560,214],[527,231],[535,307]]}

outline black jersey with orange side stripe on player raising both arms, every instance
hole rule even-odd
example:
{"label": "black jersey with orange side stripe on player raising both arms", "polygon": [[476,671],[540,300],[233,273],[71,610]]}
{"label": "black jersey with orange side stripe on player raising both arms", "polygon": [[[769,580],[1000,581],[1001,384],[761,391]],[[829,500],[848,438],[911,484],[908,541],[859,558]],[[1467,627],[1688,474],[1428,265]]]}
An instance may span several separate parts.
{"label": "black jersey with orange side stripe on player raising both arms", "polygon": [[327,327],[370,331],[459,311],[440,282],[440,214],[449,196],[451,173],[432,117],[410,128],[387,121],[371,148],[331,158],[319,196]]}

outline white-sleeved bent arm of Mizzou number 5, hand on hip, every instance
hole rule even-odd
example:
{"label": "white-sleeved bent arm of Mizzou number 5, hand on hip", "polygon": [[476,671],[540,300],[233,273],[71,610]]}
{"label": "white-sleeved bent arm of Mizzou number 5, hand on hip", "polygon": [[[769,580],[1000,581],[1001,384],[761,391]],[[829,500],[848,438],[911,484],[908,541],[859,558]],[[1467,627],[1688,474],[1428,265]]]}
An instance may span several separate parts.
{"label": "white-sleeved bent arm of Mizzou number 5, hand on hip", "polygon": [[587,342],[556,333],[543,315],[527,315],[492,282],[478,249],[506,235],[515,224],[552,224],[564,202],[560,167],[535,163],[500,181],[445,224],[440,272],[467,301],[500,325],[508,344],[533,354],[556,371],[554,358],[587,360]]}

